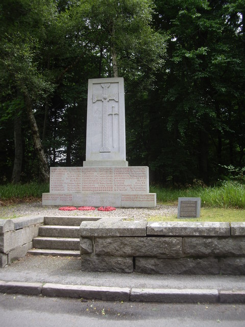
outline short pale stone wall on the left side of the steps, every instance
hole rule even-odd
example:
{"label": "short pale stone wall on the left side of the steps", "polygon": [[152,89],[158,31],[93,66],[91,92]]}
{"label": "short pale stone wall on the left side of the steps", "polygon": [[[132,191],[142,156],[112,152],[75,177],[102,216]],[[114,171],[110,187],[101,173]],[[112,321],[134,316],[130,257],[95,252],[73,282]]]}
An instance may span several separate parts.
{"label": "short pale stone wall on the left side of the steps", "polygon": [[43,217],[0,219],[0,268],[26,255]]}

